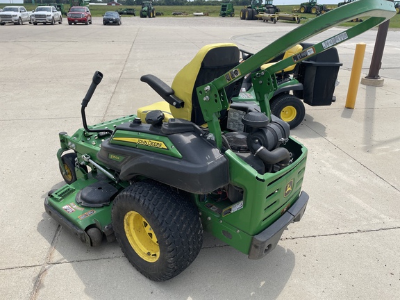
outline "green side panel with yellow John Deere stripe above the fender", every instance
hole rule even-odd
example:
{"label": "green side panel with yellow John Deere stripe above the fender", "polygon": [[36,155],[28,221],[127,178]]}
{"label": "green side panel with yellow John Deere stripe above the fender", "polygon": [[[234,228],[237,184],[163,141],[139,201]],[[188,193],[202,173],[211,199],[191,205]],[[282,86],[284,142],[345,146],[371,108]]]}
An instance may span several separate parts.
{"label": "green side panel with yellow John Deere stripe above the fender", "polygon": [[153,151],[156,153],[182,158],[181,153],[174,147],[169,138],[160,135],[150,135],[135,131],[115,131],[110,144],[133,147]]}

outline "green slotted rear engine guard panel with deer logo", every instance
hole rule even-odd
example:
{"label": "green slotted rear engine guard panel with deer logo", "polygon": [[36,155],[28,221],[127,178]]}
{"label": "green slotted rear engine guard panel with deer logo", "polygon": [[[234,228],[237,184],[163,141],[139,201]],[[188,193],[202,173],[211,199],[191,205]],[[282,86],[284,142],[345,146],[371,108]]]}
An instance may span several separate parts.
{"label": "green slotted rear engine guard panel with deer logo", "polygon": [[[292,138],[285,147],[293,152],[293,163],[279,172],[264,175],[258,174],[232,151],[225,152],[231,184],[244,190],[243,199],[238,203],[215,201],[212,197],[198,199],[197,206],[206,231],[235,249],[249,253],[249,241],[253,235],[281,217],[301,192],[307,150]],[[287,191],[288,185],[290,192]]]}

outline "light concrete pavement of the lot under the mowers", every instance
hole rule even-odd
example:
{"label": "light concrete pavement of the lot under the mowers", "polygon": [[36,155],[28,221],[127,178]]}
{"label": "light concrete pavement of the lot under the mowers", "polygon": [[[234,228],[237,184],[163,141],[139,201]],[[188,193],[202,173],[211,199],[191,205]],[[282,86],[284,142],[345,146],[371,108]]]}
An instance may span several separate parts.
{"label": "light concrete pavement of the lot under the mowers", "polygon": [[306,106],[305,120],[292,131],[309,150],[306,215],[263,260],[249,260],[205,233],[203,249],[185,272],[154,283],[128,263],[117,243],[88,249],[44,213],[47,191],[63,185],[58,133],[82,126],[81,100],[95,70],[104,78],[86,110],[89,124],[160,101],[140,76],[172,83],[205,44],[233,41],[256,51],[294,26],[236,17],[1,26],[1,298],[397,299],[400,31],[387,35],[383,87],[360,85],[354,110],[344,103],[355,44],[367,43],[365,76],[376,31],[338,46],[344,65],[337,101]]}

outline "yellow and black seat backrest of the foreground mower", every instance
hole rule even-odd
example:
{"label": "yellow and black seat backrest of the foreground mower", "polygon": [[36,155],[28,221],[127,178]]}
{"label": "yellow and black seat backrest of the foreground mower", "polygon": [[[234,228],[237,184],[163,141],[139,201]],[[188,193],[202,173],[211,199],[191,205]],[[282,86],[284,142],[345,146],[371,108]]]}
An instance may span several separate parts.
{"label": "yellow and black seat backrest of the foreground mower", "polygon": [[[185,102],[183,108],[170,106],[172,115],[197,125],[204,124],[196,88],[213,81],[238,65],[239,56],[239,48],[231,43],[209,44],[202,47],[192,61],[176,74],[172,82],[174,94]],[[234,88],[234,85],[225,88],[228,99],[232,97]]]}

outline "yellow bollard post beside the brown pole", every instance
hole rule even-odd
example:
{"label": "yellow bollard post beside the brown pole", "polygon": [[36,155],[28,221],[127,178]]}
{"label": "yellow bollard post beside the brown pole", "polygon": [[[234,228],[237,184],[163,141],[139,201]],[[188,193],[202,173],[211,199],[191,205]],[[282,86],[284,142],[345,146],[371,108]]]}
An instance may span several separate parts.
{"label": "yellow bollard post beside the brown pole", "polygon": [[351,75],[349,82],[349,90],[347,91],[346,108],[354,108],[356,104],[356,97],[358,85],[360,83],[361,68],[363,67],[363,60],[365,54],[365,47],[367,44],[356,44],[356,52],[354,53],[353,67],[351,67]]}

